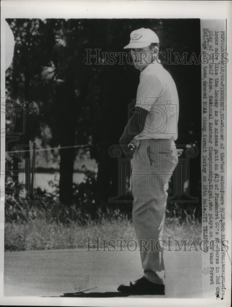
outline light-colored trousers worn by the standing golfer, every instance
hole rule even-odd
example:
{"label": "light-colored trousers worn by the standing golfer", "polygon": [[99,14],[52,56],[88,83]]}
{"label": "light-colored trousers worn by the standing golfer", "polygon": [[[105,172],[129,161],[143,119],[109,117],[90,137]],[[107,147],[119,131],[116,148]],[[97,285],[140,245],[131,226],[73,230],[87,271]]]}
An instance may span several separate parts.
{"label": "light-colored trousers worn by the standing golfer", "polygon": [[[133,140],[141,155],[133,157],[130,178],[133,193],[132,219],[137,240],[143,240],[146,248],[140,255],[145,277],[157,282],[157,276],[165,278],[162,239],[168,181],[175,169],[176,145],[170,139]],[[139,154],[138,154],[139,155]],[[153,240],[153,241],[149,241]],[[158,247],[158,248],[156,248]]]}

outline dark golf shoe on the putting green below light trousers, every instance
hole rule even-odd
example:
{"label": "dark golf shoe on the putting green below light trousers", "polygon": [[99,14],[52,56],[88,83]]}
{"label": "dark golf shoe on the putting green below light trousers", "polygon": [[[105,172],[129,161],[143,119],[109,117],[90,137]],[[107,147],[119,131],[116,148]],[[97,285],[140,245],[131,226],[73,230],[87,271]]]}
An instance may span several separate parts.
{"label": "dark golf shoe on the putting green below light trousers", "polygon": [[135,281],[134,284],[130,282],[130,286],[120,285],[118,291],[122,293],[134,294],[134,295],[164,295],[165,286],[149,282],[148,279],[142,277]]}

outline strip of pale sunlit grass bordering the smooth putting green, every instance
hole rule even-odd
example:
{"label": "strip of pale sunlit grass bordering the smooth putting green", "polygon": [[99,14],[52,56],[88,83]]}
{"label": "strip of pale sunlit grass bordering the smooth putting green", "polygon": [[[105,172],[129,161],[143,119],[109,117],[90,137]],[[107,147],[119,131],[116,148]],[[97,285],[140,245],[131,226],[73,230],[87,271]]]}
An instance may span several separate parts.
{"label": "strip of pale sunlit grass bordering the smooth putting green", "polygon": [[[126,218],[88,222],[85,226],[72,221],[69,225],[47,222],[44,219],[29,220],[24,223],[5,223],[5,251],[32,251],[49,249],[86,248],[86,236],[101,236],[101,239],[136,239],[133,223]],[[201,240],[201,223],[167,218],[164,237],[172,240]],[[101,242],[101,241],[100,241]],[[100,244],[101,247],[101,244]]]}

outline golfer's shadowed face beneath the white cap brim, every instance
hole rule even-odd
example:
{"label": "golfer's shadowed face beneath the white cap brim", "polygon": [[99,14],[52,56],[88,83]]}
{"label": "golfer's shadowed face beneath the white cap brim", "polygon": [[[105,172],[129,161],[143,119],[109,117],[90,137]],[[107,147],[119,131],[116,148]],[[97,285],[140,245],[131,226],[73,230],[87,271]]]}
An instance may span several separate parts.
{"label": "golfer's shadowed face beneath the white cap brim", "polygon": [[142,71],[154,60],[155,50],[154,48],[150,48],[150,46],[131,49],[130,52],[135,68],[139,69],[140,71]]}

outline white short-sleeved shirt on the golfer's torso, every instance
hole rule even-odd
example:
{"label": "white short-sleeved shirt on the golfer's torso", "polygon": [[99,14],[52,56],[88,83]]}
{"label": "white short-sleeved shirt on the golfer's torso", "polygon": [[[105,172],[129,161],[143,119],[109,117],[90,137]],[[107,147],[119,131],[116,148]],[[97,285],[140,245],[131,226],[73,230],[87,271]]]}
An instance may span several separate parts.
{"label": "white short-sleeved shirt on the golfer's torso", "polygon": [[176,84],[169,72],[156,61],[149,64],[140,74],[136,105],[149,114],[144,120],[142,138],[178,137],[179,99]]}

